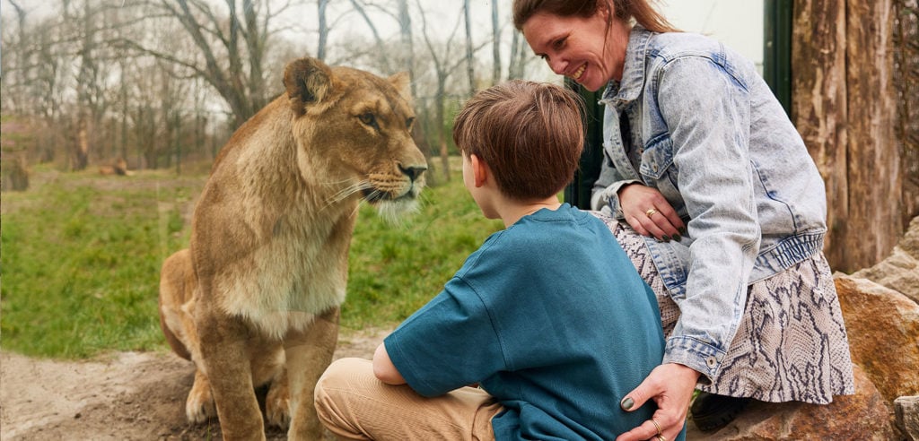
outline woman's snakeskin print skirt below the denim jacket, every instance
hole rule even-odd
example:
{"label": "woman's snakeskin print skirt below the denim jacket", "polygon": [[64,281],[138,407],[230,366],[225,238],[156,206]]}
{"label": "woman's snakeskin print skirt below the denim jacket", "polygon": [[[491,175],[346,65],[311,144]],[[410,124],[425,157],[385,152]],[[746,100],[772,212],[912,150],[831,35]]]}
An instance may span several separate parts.
{"label": "woman's snakeskin print skirt below the denim jacket", "polygon": [[[664,335],[680,311],[664,287],[641,236],[625,222],[594,213],[607,223],[661,310]],[[817,254],[748,288],[740,328],[710,385],[719,395],[760,401],[825,404],[855,393],[843,314],[830,266]]]}

